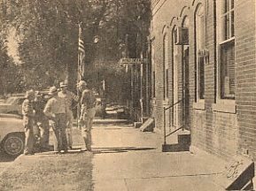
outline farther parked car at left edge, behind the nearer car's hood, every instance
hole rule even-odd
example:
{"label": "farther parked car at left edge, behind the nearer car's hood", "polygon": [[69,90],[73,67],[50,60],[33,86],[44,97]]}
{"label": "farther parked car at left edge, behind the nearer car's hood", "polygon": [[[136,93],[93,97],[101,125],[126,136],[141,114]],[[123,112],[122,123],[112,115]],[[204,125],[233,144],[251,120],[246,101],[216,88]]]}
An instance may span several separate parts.
{"label": "farther parked car at left edge, behind the nearer car's hood", "polygon": [[23,95],[10,96],[4,103],[0,103],[0,113],[12,113],[21,115],[21,105],[25,97]]}

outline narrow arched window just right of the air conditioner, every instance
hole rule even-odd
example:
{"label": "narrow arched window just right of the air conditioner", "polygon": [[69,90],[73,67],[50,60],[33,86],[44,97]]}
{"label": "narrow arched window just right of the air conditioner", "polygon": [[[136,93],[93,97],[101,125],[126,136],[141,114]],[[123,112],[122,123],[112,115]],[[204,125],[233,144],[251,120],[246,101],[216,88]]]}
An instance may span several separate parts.
{"label": "narrow arched window just right of the air conditioner", "polygon": [[205,99],[205,11],[202,4],[198,6],[195,17],[196,30],[196,101]]}

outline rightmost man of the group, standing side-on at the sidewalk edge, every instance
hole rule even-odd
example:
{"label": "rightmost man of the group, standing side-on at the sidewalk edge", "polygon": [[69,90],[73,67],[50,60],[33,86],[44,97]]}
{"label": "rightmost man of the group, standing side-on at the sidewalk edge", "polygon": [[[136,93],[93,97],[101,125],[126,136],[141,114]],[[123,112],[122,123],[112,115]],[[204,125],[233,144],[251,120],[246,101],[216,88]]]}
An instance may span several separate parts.
{"label": "rightmost man of the group, standing side-on at the sidewalk edge", "polygon": [[81,116],[79,118],[81,136],[84,140],[86,149],[91,151],[91,127],[96,112],[96,97],[87,87],[87,83],[84,80],[81,80],[77,86],[81,91]]}

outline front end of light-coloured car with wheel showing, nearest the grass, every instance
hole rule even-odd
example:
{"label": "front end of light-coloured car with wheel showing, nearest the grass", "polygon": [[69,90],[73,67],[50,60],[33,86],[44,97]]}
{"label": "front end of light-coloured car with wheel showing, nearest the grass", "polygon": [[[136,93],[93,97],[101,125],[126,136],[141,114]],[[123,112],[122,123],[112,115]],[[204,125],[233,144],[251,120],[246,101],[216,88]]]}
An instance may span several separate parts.
{"label": "front end of light-coloured car with wheel showing, nearest the grass", "polygon": [[9,156],[19,156],[25,145],[22,118],[14,114],[0,113],[0,146]]}

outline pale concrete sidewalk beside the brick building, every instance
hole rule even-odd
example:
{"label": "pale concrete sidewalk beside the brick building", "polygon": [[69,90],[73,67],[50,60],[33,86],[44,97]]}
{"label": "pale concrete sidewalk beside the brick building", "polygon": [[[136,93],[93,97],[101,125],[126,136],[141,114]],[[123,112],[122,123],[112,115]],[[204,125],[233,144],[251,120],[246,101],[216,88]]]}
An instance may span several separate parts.
{"label": "pale concrete sidewalk beside the brick building", "polygon": [[159,134],[95,126],[93,141],[95,190],[224,190],[213,182],[223,161],[206,153],[162,153]]}

